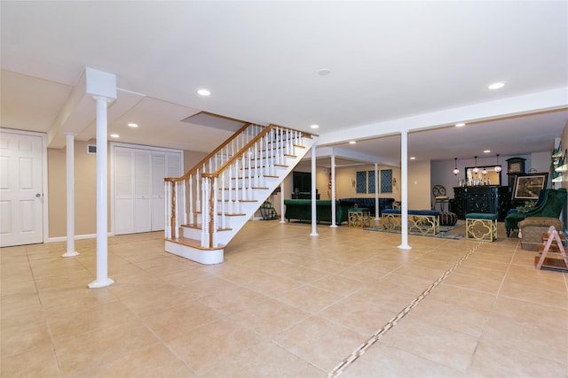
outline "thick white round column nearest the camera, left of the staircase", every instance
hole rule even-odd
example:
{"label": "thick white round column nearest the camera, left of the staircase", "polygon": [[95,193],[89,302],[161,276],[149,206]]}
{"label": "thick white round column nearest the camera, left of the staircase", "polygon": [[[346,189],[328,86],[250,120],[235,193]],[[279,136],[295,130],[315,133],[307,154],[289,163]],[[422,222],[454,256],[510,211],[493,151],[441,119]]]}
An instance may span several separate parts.
{"label": "thick white round column nearest the camera, left of the staircase", "polygon": [[110,99],[103,96],[93,96],[93,98],[97,101],[97,279],[91,282],[89,287],[96,289],[112,285],[114,281],[108,278],[108,220],[106,219],[108,203],[106,102]]}

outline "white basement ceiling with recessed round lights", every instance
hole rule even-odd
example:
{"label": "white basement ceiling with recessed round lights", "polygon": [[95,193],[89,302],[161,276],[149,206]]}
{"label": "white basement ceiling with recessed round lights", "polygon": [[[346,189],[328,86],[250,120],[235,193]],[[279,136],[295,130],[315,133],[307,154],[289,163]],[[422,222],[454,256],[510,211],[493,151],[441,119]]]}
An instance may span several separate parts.
{"label": "white basement ceiling with recessed round lights", "polygon": [[122,143],[209,152],[231,131],[185,120],[204,111],[398,165],[400,130],[409,156],[445,160],[551,150],[568,122],[568,2],[3,0],[0,11],[1,126],[48,133],[52,148],[70,129],[95,136],[94,102],[71,101],[86,67],[116,75],[108,132]]}

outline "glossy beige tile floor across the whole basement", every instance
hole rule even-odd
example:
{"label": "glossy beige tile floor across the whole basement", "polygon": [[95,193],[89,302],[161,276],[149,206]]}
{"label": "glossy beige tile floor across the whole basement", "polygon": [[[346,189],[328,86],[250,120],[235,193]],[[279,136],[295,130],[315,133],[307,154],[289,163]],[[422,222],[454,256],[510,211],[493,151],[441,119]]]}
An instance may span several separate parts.
{"label": "glossy beige tile floor across the whole basement", "polygon": [[[201,266],[162,233],[0,250],[2,376],[325,377],[477,242],[253,221]],[[568,274],[482,243],[341,376],[568,377]]]}

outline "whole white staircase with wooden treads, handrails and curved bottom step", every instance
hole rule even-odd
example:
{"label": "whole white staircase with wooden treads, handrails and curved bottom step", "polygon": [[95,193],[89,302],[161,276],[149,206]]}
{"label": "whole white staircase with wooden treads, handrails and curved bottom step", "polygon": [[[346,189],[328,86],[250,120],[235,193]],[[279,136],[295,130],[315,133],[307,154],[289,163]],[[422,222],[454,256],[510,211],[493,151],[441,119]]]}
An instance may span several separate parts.
{"label": "whole white staircase with wooden treads, handrails and curved bottom step", "polygon": [[165,179],[166,251],[201,264],[225,246],[304,158],[316,135],[247,124],[179,178]]}

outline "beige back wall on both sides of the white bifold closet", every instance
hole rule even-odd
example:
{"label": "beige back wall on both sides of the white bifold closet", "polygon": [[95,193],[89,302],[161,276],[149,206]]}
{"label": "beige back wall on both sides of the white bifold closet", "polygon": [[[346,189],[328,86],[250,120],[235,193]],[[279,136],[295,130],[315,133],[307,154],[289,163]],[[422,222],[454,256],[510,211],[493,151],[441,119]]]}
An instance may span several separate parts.
{"label": "beige back wall on both sides of the white bifold closet", "polygon": [[[96,141],[75,141],[75,235],[97,233],[97,155],[87,153],[87,144]],[[110,153],[110,146],[108,148]],[[184,151],[184,169],[193,167],[204,152]],[[108,158],[110,175],[110,156]],[[67,235],[67,149],[47,149],[49,237]],[[110,176],[108,178],[108,230],[110,219]]]}

